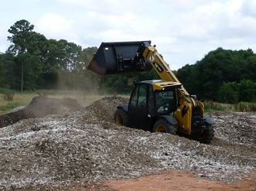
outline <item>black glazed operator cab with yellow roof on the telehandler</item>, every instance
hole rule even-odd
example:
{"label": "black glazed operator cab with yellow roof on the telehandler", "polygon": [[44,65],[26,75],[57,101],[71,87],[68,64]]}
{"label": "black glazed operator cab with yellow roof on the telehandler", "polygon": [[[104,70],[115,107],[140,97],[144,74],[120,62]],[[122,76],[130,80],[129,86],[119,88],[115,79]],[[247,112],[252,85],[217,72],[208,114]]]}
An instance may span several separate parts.
{"label": "black glazed operator cab with yellow roof on the telehandler", "polygon": [[178,107],[176,89],[181,87],[182,84],[164,80],[137,82],[128,105],[130,126],[152,131],[156,118],[170,115]]}

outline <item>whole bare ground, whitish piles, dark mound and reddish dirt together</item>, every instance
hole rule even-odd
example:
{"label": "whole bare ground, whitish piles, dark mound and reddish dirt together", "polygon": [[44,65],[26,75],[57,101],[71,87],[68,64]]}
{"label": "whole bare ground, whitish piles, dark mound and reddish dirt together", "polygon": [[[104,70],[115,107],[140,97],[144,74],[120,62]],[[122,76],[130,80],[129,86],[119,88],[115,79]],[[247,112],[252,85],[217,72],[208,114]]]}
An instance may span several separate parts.
{"label": "whole bare ground, whitish piles, dark mound and reddish dirt together", "polygon": [[34,97],[0,115],[0,189],[256,189],[256,114],[209,114],[215,138],[203,145],[118,126],[112,114],[127,102]]}

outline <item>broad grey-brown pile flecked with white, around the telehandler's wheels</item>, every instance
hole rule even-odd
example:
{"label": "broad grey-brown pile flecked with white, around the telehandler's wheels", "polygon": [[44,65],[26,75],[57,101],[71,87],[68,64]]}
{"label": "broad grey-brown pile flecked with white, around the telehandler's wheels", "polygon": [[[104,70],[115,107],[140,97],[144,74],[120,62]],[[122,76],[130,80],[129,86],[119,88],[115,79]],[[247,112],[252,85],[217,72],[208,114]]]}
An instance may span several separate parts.
{"label": "broad grey-brown pile flecked with white, around the telehandler's wheels", "polygon": [[0,189],[54,188],[79,181],[135,178],[164,169],[223,181],[255,172],[255,114],[211,114],[216,138],[203,145],[116,125],[112,114],[127,101],[105,97],[72,114],[26,118],[0,128]]}

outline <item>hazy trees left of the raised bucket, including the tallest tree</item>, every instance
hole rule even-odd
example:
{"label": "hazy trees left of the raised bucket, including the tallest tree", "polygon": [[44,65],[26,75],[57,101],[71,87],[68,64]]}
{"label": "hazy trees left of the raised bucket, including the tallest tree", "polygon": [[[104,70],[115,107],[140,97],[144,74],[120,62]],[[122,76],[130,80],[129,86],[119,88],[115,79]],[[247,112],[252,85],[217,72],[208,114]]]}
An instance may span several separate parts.
{"label": "hazy trees left of the raised bucket, including the tallest tree", "polygon": [[[97,47],[82,49],[65,39],[47,39],[20,20],[10,27],[11,46],[0,54],[0,88],[36,90],[88,88],[95,75],[85,70]],[[85,80],[92,78],[92,82]],[[96,77],[97,78],[97,77]]]}

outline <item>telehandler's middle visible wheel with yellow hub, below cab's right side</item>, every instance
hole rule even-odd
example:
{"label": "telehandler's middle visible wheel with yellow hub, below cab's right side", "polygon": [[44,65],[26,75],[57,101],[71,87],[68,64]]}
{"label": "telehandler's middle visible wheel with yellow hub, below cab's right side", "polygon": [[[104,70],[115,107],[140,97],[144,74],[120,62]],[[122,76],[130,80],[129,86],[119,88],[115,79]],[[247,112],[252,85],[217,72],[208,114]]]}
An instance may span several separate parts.
{"label": "telehandler's middle visible wheel with yellow hub, below cab's right side", "polygon": [[160,118],[154,123],[153,132],[163,132],[176,135],[175,125],[169,123],[164,118]]}

